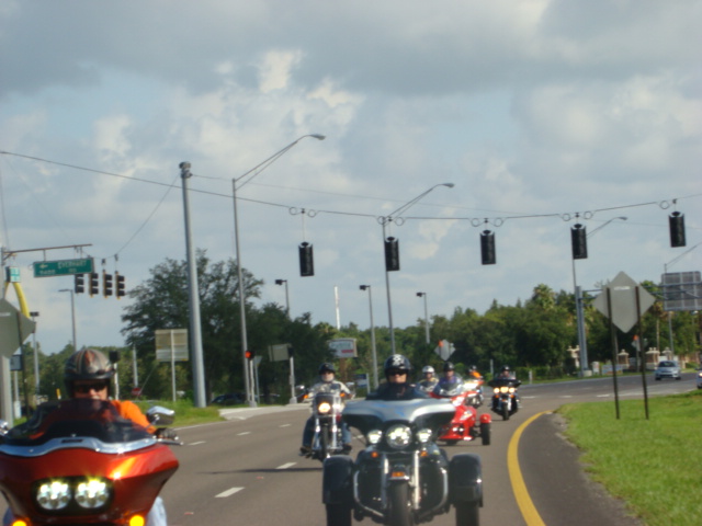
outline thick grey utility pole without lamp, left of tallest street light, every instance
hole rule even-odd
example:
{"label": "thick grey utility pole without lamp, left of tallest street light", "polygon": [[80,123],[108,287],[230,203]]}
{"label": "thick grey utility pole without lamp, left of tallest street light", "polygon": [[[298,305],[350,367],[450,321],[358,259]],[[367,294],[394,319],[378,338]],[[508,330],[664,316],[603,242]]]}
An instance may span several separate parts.
{"label": "thick grey utility pole without lamp, left of tallest street light", "polygon": [[181,179],[183,181],[183,210],[185,216],[185,253],[188,255],[188,307],[190,310],[190,341],[193,356],[193,395],[196,408],[204,408],[205,374],[202,352],[202,328],[200,324],[200,291],[197,287],[197,262],[195,261],[190,230],[190,201],[188,196],[188,180],[190,162],[181,162]]}

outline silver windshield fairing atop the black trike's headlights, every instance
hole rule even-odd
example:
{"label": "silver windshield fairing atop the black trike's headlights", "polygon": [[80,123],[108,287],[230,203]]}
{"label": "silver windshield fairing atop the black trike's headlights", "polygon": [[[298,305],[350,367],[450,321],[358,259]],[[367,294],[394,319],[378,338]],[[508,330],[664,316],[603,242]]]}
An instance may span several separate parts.
{"label": "silver windshield fairing atop the black trike's headlights", "polygon": [[350,426],[366,434],[387,422],[406,422],[417,428],[437,430],[451,422],[454,413],[455,408],[445,400],[364,400],[347,405],[342,418]]}

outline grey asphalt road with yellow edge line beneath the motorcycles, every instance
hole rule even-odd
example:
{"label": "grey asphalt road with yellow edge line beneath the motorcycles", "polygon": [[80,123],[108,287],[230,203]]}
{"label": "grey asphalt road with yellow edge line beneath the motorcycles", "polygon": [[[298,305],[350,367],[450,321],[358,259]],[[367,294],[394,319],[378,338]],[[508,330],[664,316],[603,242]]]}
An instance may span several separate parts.
{"label": "grey asphalt road with yellow edge line beneath the motorcycles", "polygon": [[[692,378],[690,374],[681,381],[654,382],[649,375],[648,395],[693,390]],[[446,448],[450,455],[480,455],[482,524],[636,525],[625,516],[621,503],[582,474],[577,450],[561,436],[563,422],[551,413],[563,403],[599,400],[603,414],[610,412],[614,418],[612,380],[522,386],[520,392],[522,409],[507,422],[494,420],[491,445],[477,442]],[[621,379],[622,400],[642,393],[641,377]],[[308,407],[226,413],[227,422],[179,430],[184,442],[174,448],[180,469],[161,493],[169,525],[325,525],[321,465],[297,455]],[[532,416],[535,419],[524,425]],[[511,466],[510,444],[518,451],[518,461]],[[354,453],[360,448],[361,442],[354,438]],[[525,491],[514,490],[514,473],[521,476]],[[373,523],[366,519],[364,524]],[[454,514],[435,517],[431,524],[454,525]]]}

